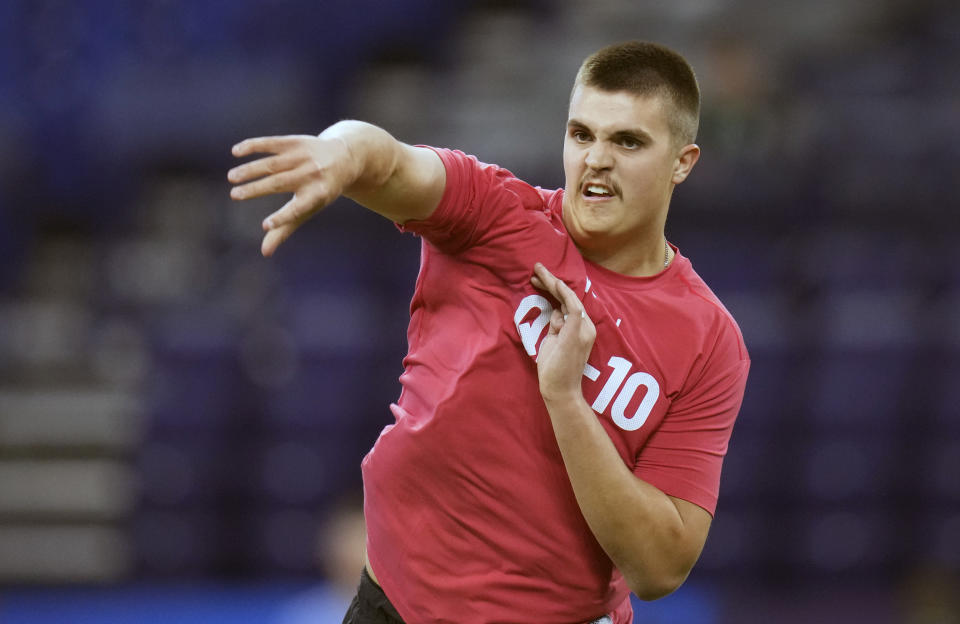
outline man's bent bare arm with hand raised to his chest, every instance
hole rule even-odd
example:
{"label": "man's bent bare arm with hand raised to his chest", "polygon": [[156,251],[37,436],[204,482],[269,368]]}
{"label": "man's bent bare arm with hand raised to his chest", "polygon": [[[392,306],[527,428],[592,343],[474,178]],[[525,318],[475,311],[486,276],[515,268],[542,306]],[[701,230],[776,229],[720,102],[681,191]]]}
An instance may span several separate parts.
{"label": "man's bent bare arm with hand raised to his chest", "polygon": [[531,282],[561,304],[540,346],[537,374],[577,503],[631,591],[643,600],[665,596],[699,558],[712,517],[638,479],[623,463],[580,387],[596,328],[576,293],[543,265]]}

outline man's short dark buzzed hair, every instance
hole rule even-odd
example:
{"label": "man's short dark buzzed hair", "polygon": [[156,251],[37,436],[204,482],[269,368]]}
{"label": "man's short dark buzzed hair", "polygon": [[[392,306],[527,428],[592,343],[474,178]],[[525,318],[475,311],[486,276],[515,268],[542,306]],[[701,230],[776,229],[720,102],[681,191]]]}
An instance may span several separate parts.
{"label": "man's short dark buzzed hair", "polygon": [[607,46],[583,62],[574,89],[577,85],[663,97],[674,140],[686,145],[697,138],[700,125],[697,78],[686,59],[666,46],[646,41]]}

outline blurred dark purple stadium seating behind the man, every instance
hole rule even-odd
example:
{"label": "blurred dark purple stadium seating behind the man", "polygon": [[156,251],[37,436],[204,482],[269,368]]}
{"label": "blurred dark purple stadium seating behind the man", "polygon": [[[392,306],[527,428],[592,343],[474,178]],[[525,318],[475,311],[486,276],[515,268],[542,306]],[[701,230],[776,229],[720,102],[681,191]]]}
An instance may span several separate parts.
{"label": "blurred dark purple stadium seating behind the man", "polygon": [[628,38],[698,72],[668,235],[753,357],[702,560],[637,622],[960,621],[958,33],[936,0],[0,2],[0,622],[340,608],[356,525],[322,528],[418,243],[340,201],[262,259],[230,146],[353,117],[560,186],[577,65]]}

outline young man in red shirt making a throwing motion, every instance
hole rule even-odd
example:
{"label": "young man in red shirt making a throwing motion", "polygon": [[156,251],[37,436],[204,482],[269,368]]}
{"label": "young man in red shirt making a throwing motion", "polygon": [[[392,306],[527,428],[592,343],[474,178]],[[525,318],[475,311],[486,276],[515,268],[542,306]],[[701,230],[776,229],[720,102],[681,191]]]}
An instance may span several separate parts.
{"label": "young man in red shirt making a throwing motion", "polygon": [[649,43],[588,58],[566,185],[341,122],[248,139],[235,199],[294,196],[272,255],[346,195],[422,237],[396,423],[363,461],[367,570],[345,622],[605,621],[696,562],[749,359],[669,245],[699,89]]}

